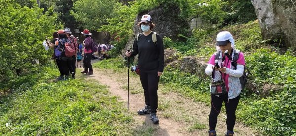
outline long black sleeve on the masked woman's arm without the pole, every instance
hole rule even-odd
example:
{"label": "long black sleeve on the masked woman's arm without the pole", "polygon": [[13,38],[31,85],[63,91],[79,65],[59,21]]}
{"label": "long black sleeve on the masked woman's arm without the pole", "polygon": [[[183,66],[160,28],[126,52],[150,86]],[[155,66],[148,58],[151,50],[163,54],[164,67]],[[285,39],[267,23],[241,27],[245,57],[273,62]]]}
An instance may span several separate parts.
{"label": "long black sleeve on the masked woman's arm without the pole", "polygon": [[159,53],[159,67],[158,72],[163,72],[164,69],[164,47],[163,47],[163,40],[160,35],[156,35],[157,37],[157,48]]}

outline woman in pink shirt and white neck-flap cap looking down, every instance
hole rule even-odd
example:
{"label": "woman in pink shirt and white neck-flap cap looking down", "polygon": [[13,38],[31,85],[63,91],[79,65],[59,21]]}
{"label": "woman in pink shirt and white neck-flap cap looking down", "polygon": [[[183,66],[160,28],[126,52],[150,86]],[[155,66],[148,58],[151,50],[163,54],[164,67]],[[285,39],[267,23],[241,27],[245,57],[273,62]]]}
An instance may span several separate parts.
{"label": "woman in pink shirt and white neck-flap cap looking down", "polygon": [[[212,104],[211,112],[209,115],[209,136],[216,136],[215,129],[217,124],[217,116],[220,113],[223,102],[225,102],[227,114],[227,131],[225,136],[233,136],[233,128],[236,120],[235,111],[242,90],[239,77],[243,75],[245,59],[244,54],[242,52],[239,52],[239,57],[236,61],[237,66],[235,68],[235,64],[232,62],[232,58],[234,58],[234,54],[236,53],[234,47],[234,39],[228,31],[222,31],[218,33],[216,38],[216,50],[217,52],[214,53],[208,61],[208,66],[205,69],[205,72],[207,75],[212,74],[213,76],[214,74],[214,77],[212,77],[212,82],[222,80],[224,84],[222,84],[220,87],[211,87]],[[219,68],[214,67],[215,65],[219,65]],[[222,92],[223,88],[226,89],[226,91],[224,91],[224,94],[214,95],[212,93],[213,89],[214,91]]]}

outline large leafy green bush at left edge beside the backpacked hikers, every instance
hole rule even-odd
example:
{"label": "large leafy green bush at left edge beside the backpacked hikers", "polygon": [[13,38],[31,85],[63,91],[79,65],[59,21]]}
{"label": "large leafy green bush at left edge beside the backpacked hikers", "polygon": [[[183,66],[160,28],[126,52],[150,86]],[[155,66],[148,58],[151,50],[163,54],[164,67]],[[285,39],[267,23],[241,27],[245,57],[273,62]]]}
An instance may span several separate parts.
{"label": "large leafy green bush at left edge beside the backpacked hikers", "polygon": [[0,85],[16,78],[15,70],[27,71],[37,67],[32,62],[40,60],[46,65],[50,56],[42,42],[46,36],[61,27],[52,10],[20,6],[14,0],[0,2]]}

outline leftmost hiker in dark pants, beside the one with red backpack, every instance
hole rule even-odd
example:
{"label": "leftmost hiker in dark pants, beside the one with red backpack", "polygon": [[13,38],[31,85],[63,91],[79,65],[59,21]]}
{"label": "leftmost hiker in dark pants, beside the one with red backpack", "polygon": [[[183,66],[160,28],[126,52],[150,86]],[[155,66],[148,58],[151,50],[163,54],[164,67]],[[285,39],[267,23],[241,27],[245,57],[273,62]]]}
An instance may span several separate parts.
{"label": "leftmost hiker in dark pants, beside the one with red backpack", "polygon": [[70,73],[73,74],[72,57],[67,57],[65,54],[65,43],[71,43],[71,40],[67,37],[65,30],[58,31],[59,40],[55,42],[57,49],[61,51],[62,68],[65,75],[65,79],[69,78]]}

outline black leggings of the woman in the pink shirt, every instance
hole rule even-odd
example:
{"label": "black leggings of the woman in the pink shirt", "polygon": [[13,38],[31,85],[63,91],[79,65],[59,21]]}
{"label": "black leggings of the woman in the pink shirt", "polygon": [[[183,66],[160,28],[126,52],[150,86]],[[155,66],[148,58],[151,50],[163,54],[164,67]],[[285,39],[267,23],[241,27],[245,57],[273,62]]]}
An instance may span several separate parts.
{"label": "black leggings of the woman in the pink shirt", "polygon": [[235,125],[235,111],[239,102],[240,96],[237,96],[234,99],[229,99],[228,102],[228,94],[220,95],[219,97],[215,95],[211,95],[211,112],[209,116],[209,125],[210,130],[215,130],[216,124],[217,124],[217,116],[220,113],[222,103],[225,102],[225,108],[226,108],[226,124],[227,129],[230,131],[233,131],[234,125]]}

